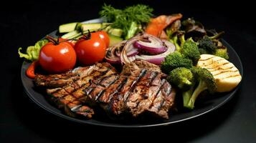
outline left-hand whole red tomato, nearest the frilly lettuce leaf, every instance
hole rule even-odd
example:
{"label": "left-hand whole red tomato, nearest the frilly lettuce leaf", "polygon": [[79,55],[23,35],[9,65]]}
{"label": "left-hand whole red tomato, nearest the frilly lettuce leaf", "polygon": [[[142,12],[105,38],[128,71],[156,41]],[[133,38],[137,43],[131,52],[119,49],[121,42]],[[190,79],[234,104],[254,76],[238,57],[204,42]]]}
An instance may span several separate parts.
{"label": "left-hand whole red tomato, nearest the frilly lettuce leaf", "polygon": [[53,74],[73,69],[76,59],[75,50],[67,41],[59,44],[50,41],[42,47],[39,53],[40,66]]}

